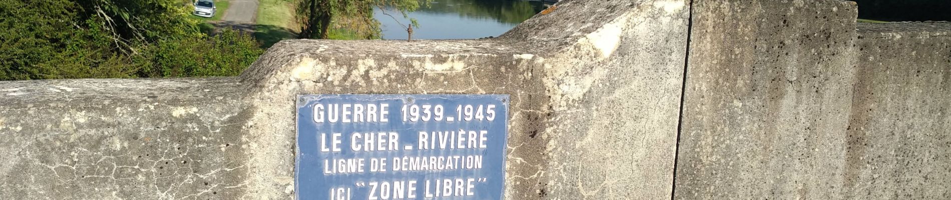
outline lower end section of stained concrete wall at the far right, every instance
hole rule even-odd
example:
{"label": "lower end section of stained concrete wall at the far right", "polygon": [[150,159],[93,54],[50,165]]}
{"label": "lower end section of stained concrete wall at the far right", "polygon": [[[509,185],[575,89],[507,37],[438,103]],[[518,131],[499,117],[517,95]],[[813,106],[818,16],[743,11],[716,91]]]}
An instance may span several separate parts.
{"label": "lower end section of stained concrete wall at the far right", "polygon": [[951,24],[860,24],[844,198],[951,199]]}

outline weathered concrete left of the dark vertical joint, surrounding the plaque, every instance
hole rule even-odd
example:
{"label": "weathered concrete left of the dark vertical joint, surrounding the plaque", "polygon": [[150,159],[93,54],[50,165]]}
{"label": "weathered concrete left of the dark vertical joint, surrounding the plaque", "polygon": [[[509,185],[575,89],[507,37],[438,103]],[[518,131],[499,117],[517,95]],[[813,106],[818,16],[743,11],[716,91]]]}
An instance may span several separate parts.
{"label": "weathered concrete left of the dark vertical joint, surrounding the plaque", "polygon": [[688,15],[565,1],[489,40],[284,41],[240,78],[0,82],[29,90],[0,198],[292,198],[301,94],[508,94],[507,199],[670,198]]}

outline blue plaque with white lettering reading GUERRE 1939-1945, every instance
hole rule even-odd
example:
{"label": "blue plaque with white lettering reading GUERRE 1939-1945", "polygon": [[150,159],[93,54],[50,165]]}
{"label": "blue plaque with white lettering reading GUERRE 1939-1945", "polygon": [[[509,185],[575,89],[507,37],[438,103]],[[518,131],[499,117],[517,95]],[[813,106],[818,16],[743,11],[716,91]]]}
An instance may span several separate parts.
{"label": "blue plaque with white lettering reading GUERRE 1939-1945", "polygon": [[304,95],[298,199],[502,199],[508,95]]}

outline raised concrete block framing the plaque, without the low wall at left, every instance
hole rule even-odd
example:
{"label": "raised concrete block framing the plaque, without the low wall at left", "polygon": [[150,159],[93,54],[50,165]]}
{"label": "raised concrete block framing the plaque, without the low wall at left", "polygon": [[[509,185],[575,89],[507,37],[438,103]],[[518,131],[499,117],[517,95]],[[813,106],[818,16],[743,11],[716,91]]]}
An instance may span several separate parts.
{"label": "raised concrete block framing the plaque, without the low wall at left", "polygon": [[251,191],[293,175],[295,107],[281,102],[298,94],[509,94],[506,198],[670,198],[688,10],[576,1],[491,40],[282,42],[242,77],[260,88],[252,132],[271,133],[250,137]]}

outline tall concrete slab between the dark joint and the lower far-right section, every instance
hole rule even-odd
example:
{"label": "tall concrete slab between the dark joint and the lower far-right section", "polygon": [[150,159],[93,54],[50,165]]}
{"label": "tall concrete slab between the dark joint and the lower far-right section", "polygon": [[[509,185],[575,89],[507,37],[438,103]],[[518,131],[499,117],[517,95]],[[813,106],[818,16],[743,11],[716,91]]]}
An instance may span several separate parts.
{"label": "tall concrete slab between the dark joint and the lower far-right section", "polygon": [[676,199],[843,199],[856,5],[694,0]]}

